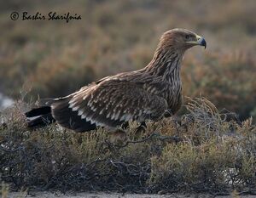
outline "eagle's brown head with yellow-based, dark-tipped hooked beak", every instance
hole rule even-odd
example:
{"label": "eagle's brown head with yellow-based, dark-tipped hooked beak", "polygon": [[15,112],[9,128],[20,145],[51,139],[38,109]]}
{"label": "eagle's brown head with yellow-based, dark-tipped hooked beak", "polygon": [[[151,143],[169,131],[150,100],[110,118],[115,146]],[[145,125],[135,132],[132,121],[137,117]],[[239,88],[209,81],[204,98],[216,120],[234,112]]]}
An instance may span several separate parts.
{"label": "eagle's brown head with yellow-based, dark-tipped hooked beak", "polygon": [[207,48],[207,42],[204,37],[195,34],[193,31],[185,29],[172,29],[166,31],[160,38],[160,48],[172,48],[178,51],[185,51],[195,45]]}

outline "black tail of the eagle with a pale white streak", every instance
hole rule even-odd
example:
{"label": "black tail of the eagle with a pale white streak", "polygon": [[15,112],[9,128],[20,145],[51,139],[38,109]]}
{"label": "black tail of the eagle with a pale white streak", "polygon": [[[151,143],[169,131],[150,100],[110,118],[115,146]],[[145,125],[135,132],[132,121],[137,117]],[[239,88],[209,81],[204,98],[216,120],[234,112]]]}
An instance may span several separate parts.
{"label": "black tail of the eagle with a pale white streak", "polygon": [[49,106],[42,106],[25,113],[28,127],[44,127],[55,122]]}

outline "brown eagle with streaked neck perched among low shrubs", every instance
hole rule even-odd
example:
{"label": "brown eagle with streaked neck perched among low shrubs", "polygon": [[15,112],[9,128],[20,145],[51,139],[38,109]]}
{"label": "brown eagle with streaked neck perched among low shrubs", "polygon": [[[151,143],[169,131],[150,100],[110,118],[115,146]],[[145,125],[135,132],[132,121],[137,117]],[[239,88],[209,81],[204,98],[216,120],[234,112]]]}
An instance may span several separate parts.
{"label": "brown eagle with streaked neck perched among low shrubs", "polygon": [[107,76],[65,97],[26,112],[28,127],[57,122],[74,132],[117,129],[172,116],[183,104],[181,64],[187,49],[207,48],[204,37],[185,29],[166,31],[143,69]]}

